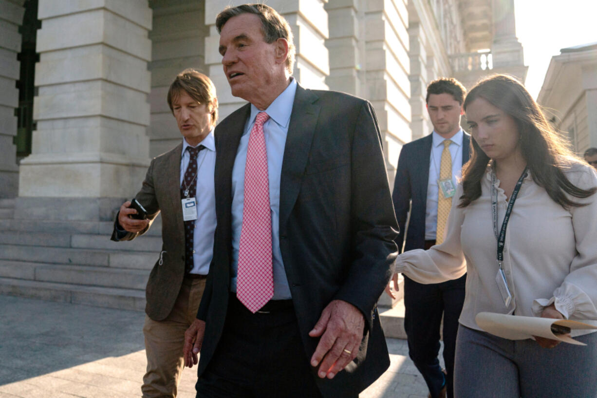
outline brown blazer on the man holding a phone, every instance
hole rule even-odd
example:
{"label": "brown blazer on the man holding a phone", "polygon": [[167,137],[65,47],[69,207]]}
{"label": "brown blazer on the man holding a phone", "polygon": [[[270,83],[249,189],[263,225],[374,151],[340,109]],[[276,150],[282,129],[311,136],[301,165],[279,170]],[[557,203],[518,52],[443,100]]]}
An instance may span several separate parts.
{"label": "brown blazer on the man holding a phone", "polygon": [[141,190],[135,196],[149,215],[150,224],[141,232],[116,236],[116,222],[112,240],[132,240],[144,234],[153,219],[162,212],[162,253],[156,261],[145,291],[145,312],[153,320],[163,320],[174,308],[184,278],[184,222],[180,204],[180,158],[182,143],[154,158],[147,170]]}

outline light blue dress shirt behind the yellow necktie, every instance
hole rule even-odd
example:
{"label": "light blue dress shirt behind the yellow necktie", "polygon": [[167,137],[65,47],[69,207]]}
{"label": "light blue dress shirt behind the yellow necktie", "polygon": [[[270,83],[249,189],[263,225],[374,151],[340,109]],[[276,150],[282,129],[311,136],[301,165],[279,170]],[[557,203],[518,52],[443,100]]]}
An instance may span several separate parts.
{"label": "light blue dress shirt behind the yellow necktie", "polygon": [[[433,131],[433,143],[431,145],[431,154],[429,158],[429,181],[427,182],[427,204],[425,211],[425,240],[435,240],[438,228],[438,179],[439,166],[442,161],[442,152],[444,151],[444,137]],[[462,129],[450,139],[452,143],[448,146],[452,157],[452,183],[456,188],[456,183],[462,176],[462,139],[464,133]]]}

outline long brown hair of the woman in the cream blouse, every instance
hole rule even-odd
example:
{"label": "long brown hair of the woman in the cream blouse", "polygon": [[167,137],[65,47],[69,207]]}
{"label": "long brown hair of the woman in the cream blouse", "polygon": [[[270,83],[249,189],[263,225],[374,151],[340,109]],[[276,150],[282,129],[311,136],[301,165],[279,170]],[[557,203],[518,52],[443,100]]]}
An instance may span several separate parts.
{"label": "long brown hair of the woman in the cream blouse", "polygon": [[[569,209],[583,206],[571,200],[586,198],[597,187],[581,189],[567,179],[564,170],[573,163],[580,163],[569,149],[567,141],[547,122],[543,112],[527,89],[508,75],[492,75],[478,82],[464,99],[464,111],[473,100],[481,97],[512,117],[521,134],[520,148],[527,167],[537,185],[542,186],[553,201]],[[463,195],[458,207],[466,207],[481,196],[481,179],[490,158],[475,139],[470,140],[472,155],[462,170]]]}

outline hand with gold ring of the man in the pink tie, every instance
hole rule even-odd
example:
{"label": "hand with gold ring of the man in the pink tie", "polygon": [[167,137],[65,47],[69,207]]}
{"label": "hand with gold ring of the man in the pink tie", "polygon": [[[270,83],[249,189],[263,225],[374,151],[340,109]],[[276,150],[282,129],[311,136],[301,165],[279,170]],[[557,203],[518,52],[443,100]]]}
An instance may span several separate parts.
{"label": "hand with gold ring of the man in the pink tie", "polygon": [[321,336],[311,357],[311,366],[321,363],[319,377],[333,378],[356,358],[364,327],[365,319],[361,311],[346,301],[334,300],[324,308],[315,327],[309,332],[311,337]]}

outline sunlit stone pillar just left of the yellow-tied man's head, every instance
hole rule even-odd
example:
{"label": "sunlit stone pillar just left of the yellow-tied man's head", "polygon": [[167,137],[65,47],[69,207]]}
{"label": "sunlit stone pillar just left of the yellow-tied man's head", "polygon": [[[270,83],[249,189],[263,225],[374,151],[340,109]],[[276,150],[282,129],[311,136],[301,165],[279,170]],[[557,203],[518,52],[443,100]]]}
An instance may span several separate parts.
{"label": "sunlit stone pillar just left of the yellow-tied man's head", "polygon": [[364,4],[364,97],[376,110],[392,185],[401,146],[411,138],[407,4],[404,0],[368,0]]}

